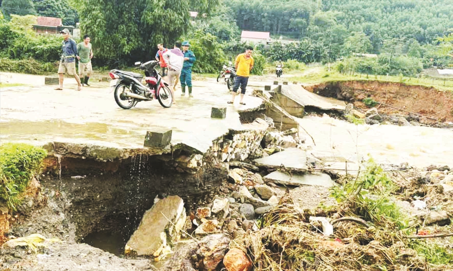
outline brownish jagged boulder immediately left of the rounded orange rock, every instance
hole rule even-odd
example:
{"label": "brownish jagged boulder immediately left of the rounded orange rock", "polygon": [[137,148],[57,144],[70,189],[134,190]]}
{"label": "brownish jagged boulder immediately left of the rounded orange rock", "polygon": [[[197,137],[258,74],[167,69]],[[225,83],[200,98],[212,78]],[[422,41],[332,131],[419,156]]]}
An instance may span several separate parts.
{"label": "brownish jagged boulder immediately left of the rounded orange rock", "polygon": [[196,252],[198,258],[198,270],[217,270],[219,263],[225,257],[230,238],[223,234],[208,235],[198,242]]}

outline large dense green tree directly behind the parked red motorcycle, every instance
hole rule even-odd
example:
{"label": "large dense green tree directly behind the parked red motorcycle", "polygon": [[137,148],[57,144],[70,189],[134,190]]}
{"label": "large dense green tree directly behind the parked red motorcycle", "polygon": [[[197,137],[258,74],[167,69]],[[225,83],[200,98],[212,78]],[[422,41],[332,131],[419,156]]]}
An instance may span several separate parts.
{"label": "large dense green tree directly behind the parked red motorcycle", "polygon": [[[209,2],[209,3],[208,3]],[[173,44],[187,33],[189,5],[209,17],[218,1],[84,0],[71,1],[80,28],[91,35],[102,65],[125,65],[154,58],[157,43]]]}

